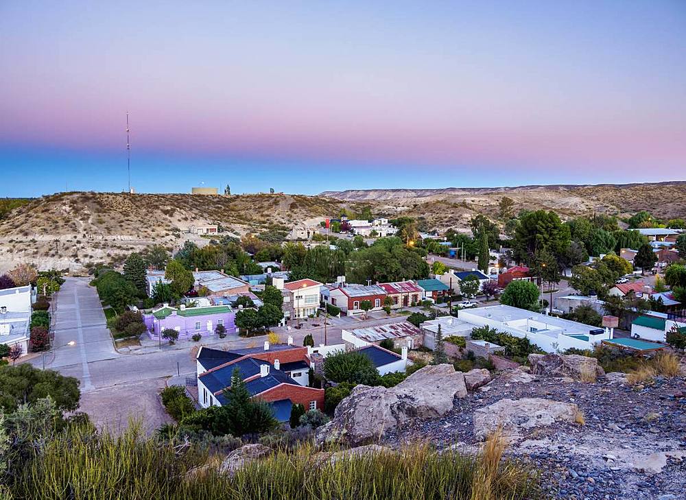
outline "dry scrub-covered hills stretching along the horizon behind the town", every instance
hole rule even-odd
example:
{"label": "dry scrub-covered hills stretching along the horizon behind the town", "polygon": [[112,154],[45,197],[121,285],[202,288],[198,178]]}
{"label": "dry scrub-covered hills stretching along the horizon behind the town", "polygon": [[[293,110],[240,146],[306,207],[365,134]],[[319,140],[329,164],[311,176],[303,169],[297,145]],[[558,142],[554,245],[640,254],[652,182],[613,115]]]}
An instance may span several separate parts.
{"label": "dry scrub-covered hills stretching along the horizon behind the town", "polygon": [[[0,271],[29,261],[41,268],[80,272],[92,263],[117,263],[152,243],[175,248],[191,226],[219,223],[243,235],[316,224],[341,209],[370,206],[375,215],[422,217],[429,228],[468,228],[483,213],[497,219],[498,202],[512,198],[515,210],[554,210],[561,217],[630,215],[658,217],[686,212],[686,182],[492,189],[329,191],[318,196],[248,194],[58,193],[32,200],[0,220]],[[196,238],[198,239],[198,238]],[[202,239],[200,239],[202,241]],[[206,241],[206,240],[204,240]]]}

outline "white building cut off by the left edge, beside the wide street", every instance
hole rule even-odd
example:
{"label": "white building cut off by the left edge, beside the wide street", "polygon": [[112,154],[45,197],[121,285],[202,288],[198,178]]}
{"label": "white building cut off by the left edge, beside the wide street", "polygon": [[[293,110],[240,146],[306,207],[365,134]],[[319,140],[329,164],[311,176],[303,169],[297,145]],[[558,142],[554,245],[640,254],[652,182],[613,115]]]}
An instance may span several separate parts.
{"label": "white building cut off by the left edge, beside the wide street", "polygon": [[19,346],[22,354],[29,352],[31,302],[30,285],[0,290],[0,344]]}

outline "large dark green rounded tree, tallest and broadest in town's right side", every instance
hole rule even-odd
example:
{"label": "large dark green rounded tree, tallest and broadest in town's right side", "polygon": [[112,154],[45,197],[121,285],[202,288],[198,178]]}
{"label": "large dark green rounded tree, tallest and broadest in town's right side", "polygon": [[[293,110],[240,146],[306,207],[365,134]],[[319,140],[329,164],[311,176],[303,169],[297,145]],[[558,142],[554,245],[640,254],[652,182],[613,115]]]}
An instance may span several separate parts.
{"label": "large dark green rounded tree, tallest and broadest in town's right side", "polygon": [[560,222],[554,212],[543,210],[526,213],[519,219],[512,249],[514,257],[531,265],[536,254],[545,250],[562,259],[570,241],[569,226]]}

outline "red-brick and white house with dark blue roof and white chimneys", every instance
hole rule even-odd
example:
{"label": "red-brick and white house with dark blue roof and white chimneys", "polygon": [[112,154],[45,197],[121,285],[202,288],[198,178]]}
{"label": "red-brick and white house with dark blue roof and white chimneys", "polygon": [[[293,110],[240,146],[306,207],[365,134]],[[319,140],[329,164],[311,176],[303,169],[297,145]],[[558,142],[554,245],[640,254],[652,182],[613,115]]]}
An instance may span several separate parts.
{"label": "red-brick and white house with dark blue roof and white chimneys", "polygon": [[307,387],[310,368],[307,347],[292,344],[265,342],[263,348],[226,351],[201,347],[196,356],[198,403],[204,408],[226,403],[224,390],[237,369],[250,395],[270,403],[274,417],[286,422],[294,404],[324,408],[324,390]]}

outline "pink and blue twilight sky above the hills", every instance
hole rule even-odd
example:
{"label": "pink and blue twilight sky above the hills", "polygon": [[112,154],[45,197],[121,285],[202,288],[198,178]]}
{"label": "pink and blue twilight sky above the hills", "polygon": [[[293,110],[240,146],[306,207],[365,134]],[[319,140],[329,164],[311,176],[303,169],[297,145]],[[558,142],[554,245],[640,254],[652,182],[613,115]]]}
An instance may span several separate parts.
{"label": "pink and blue twilight sky above the hills", "polygon": [[686,2],[0,1],[0,197],[686,180]]}

